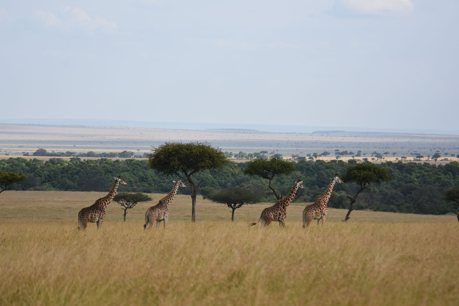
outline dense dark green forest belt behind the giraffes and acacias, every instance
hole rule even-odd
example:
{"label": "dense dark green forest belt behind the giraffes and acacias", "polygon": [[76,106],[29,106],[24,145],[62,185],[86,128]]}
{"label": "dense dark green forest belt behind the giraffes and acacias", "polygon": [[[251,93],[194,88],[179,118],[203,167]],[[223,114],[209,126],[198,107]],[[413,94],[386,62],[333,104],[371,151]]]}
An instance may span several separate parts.
{"label": "dense dark green forest belt behind the giraffes and acacias", "polygon": [[[263,201],[274,203],[274,193],[268,188],[266,179],[244,175],[247,163],[231,161],[216,171],[196,173],[196,181],[203,180],[199,192],[206,197],[220,189],[245,186],[262,197]],[[295,201],[312,202],[324,192],[335,173],[344,173],[347,167],[357,161],[302,160],[292,163],[296,171],[290,175],[276,176],[274,188],[281,195],[286,195],[293,183],[302,179],[306,190],[298,191]],[[448,211],[448,202],[443,199],[444,191],[459,188],[457,161],[444,166],[428,162],[386,161],[380,167],[386,168],[392,180],[365,190],[358,198],[357,209],[444,214]],[[108,191],[113,179],[121,175],[129,182],[129,186],[123,186],[123,191],[168,193],[173,185],[172,180],[177,179],[148,168],[147,160],[135,159],[81,160],[74,157],[70,161],[62,158],[41,161],[17,157],[0,160],[0,169],[27,175],[26,180],[15,186],[16,190]],[[346,194],[353,194],[356,189],[357,186],[353,184],[336,185],[329,207],[347,208],[349,200]],[[180,192],[187,194],[189,190],[181,189]]]}

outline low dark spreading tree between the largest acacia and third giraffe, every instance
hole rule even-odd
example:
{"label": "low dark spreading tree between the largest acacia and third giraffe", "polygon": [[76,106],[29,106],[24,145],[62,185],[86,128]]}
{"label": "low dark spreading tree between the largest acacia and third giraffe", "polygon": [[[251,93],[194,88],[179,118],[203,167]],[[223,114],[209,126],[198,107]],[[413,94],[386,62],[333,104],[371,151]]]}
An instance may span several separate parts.
{"label": "low dark spreading tree between the largest acacia and third giraffe", "polygon": [[260,197],[251,190],[239,186],[223,189],[222,191],[209,195],[213,202],[221,203],[231,208],[231,221],[234,221],[234,211],[243,205],[260,202]]}

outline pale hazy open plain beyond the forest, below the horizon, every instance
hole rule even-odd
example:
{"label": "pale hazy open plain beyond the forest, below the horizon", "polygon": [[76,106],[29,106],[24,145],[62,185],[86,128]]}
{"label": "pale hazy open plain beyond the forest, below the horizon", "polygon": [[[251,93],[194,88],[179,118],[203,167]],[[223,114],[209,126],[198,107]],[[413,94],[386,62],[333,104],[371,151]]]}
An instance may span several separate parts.
{"label": "pale hazy open plain beyond the forest, below the horizon", "polygon": [[[306,156],[308,153],[334,150],[362,150],[370,157],[373,151],[390,152],[386,160],[400,158],[411,153],[433,154],[436,150],[444,156],[459,154],[459,135],[403,134],[403,133],[281,133],[237,130],[192,130],[173,128],[95,127],[65,125],[34,125],[0,123],[0,155],[30,155],[38,148],[48,151],[75,152],[121,152],[130,150],[140,155],[152,146],[165,141],[207,141],[223,151],[237,153],[266,150],[285,157],[292,154]],[[396,152],[396,156],[392,156]],[[324,158],[322,158],[324,159]],[[325,158],[326,159],[326,158]],[[346,159],[346,157],[345,157]],[[455,157],[453,157],[456,160]]]}

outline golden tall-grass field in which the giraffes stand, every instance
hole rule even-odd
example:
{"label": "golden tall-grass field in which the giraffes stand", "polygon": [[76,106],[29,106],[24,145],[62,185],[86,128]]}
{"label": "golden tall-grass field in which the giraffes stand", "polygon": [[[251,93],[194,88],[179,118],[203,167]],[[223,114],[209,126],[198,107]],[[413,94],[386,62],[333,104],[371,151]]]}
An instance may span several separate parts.
{"label": "golden tall-grass field in which the giraffes stand", "polygon": [[[122,191],[122,190],[120,190]],[[455,216],[330,209],[303,229],[307,203],[286,227],[256,222],[263,203],[235,211],[177,195],[164,229],[112,202],[101,230],[78,231],[98,192],[0,194],[0,305],[458,305]]]}

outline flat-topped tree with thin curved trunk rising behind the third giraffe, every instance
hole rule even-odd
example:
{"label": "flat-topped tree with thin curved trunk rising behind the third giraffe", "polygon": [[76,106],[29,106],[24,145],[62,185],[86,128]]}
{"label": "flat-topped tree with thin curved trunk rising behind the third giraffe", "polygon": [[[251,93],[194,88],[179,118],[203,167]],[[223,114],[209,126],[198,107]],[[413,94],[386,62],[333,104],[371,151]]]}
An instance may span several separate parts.
{"label": "flat-topped tree with thin curved trunk rising behind the third giraffe", "polygon": [[290,174],[295,171],[296,168],[290,161],[284,161],[279,157],[271,156],[269,160],[256,159],[249,161],[247,167],[244,169],[244,173],[249,176],[259,176],[269,180],[268,187],[273,190],[277,200],[281,199],[281,196],[276,192],[272,186],[274,176],[282,174]]}

